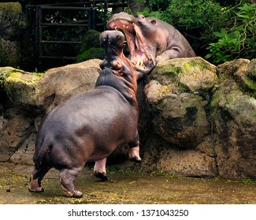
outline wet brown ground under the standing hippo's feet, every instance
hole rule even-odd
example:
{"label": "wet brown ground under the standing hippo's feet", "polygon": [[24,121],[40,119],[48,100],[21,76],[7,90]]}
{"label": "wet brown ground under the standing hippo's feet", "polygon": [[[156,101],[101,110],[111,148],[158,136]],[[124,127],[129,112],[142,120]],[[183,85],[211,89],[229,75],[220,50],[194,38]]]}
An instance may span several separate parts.
{"label": "wet brown ground under the standing hippo's feet", "polygon": [[124,203],[124,204],[248,204],[256,203],[255,181],[227,181],[221,178],[179,178],[161,172],[113,170],[109,180],[98,181],[92,167],[86,167],[76,179],[83,197],[62,195],[58,170],[50,170],[42,181],[45,192],[28,192],[32,167],[0,163],[0,203]]}

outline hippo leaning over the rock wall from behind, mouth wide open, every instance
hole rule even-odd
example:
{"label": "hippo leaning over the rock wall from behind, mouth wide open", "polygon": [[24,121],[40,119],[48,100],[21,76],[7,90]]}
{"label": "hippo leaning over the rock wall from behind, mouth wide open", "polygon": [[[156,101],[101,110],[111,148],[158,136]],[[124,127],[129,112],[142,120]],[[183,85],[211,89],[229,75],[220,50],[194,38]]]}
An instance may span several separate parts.
{"label": "hippo leaning over the rock wall from behind, mouth wide open", "polygon": [[175,27],[154,17],[114,14],[109,29],[124,31],[136,71],[149,73],[159,61],[195,57],[195,52]]}

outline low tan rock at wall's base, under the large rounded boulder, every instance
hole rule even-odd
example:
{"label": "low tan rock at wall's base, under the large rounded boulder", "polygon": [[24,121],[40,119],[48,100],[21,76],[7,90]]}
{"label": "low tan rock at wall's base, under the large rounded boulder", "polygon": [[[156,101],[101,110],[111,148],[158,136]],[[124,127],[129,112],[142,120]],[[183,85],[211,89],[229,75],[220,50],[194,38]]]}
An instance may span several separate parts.
{"label": "low tan rock at wall's base, under the large rounded boulder", "polygon": [[[150,151],[143,153],[142,166],[145,169],[165,170],[179,176],[217,176],[215,158],[207,155],[207,152],[198,149],[180,150],[154,134],[148,138],[146,145]],[[213,149],[213,145],[205,146]]]}

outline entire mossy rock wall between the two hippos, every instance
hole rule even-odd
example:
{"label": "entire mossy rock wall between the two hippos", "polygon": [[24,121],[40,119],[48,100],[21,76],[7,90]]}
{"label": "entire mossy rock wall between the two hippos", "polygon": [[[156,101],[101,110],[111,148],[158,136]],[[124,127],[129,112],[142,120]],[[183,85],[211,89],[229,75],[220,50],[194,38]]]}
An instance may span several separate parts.
{"label": "entire mossy rock wall between the two hippos", "polygon": [[[41,117],[91,90],[100,60],[44,74],[0,68],[0,161],[32,163]],[[181,176],[256,178],[256,60],[214,66],[201,57],[159,63],[139,81],[141,166]],[[1,88],[0,88],[1,90]],[[109,157],[127,159],[127,148]]]}

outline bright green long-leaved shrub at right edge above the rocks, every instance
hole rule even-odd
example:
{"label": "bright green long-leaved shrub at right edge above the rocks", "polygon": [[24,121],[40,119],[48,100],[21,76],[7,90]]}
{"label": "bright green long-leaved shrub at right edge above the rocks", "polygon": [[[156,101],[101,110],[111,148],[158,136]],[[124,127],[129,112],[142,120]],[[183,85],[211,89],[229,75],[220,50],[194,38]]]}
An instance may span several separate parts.
{"label": "bright green long-leaved shrub at right edge above the rocks", "polygon": [[206,59],[212,57],[214,63],[231,61],[239,57],[256,57],[256,6],[244,3],[243,6],[235,6],[228,10],[234,14],[231,23],[233,26],[213,32],[217,42],[211,42],[207,47],[210,53],[206,55]]}

